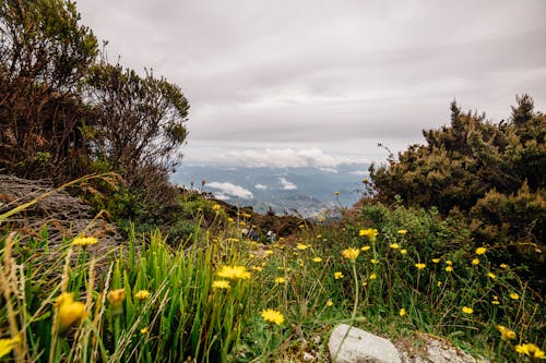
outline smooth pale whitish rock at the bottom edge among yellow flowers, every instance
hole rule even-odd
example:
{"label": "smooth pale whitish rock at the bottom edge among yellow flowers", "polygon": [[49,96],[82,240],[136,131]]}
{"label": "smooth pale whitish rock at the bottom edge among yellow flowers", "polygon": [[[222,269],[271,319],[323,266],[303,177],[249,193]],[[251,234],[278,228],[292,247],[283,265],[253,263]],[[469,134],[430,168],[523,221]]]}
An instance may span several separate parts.
{"label": "smooth pale whitish rock at the bottom edge among yellow flowers", "polygon": [[334,328],[328,348],[333,363],[402,362],[399,351],[390,340],[346,324]]}

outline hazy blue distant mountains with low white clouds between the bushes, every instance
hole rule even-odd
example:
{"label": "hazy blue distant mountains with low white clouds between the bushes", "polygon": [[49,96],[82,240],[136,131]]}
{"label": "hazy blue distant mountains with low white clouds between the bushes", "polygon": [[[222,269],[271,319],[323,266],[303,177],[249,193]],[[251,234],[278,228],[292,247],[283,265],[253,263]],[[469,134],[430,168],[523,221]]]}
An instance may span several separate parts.
{"label": "hazy blue distant mountains with low white clouds between the bushes", "polygon": [[[345,164],[335,168],[246,168],[181,166],[171,181],[201,189],[234,205],[252,206],[259,213],[312,217],[322,209],[351,207],[368,177],[367,164]],[[335,194],[339,192],[339,195]]]}

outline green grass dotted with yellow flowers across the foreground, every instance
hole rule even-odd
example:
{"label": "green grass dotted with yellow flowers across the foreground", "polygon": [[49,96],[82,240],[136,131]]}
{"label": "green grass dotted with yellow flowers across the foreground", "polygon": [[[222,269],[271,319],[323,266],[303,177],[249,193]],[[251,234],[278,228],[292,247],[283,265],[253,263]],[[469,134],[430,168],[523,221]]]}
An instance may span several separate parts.
{"label": "green grass dotted with yellow flowers across the foreground", "polygon": [[[252,216],[203,231],[197,211],[178,247],[157,231],[133,233],[100,257],[73,239],[34,253],[8,231],[0,361],[329,361],[339,323],[393,339],[441,336],[492,361],[538,358],[524,344],[544,348],[544,304],[519,266],[490,261],[491,249],[434,209],[360,211],[268,245],[241,239]],[[40,235],[36,251],[47,228]],[[513,336],[502,340],[498,325]]]}

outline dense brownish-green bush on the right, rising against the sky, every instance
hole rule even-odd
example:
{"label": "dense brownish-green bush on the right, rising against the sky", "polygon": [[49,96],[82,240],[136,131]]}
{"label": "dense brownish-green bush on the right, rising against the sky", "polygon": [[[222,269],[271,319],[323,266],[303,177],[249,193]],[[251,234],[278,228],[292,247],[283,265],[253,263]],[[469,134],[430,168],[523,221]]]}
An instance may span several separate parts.
{"label": "dense brownish-green bush on the right, rising against the sky", "polygon": [[[518,97],[508,122],[494,124],[485,114],[464,113],[451,105],[451,124],[424,131],[426,145],[392,156],[389,166],[371,166],[377,199],[396,195],[407,205],[430,207],[468,218],[474,238],[503,245],[508,257],[544,268],[546,226],[546,116],[533,99]],[[512,247],[510,247],[512,246]]]}

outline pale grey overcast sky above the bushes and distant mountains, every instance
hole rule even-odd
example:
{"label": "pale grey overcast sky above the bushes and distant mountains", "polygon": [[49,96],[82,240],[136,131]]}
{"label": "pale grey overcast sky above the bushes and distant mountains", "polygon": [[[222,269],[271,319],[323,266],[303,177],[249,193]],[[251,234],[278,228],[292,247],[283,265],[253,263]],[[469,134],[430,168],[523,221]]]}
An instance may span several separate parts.
{"label": "pale grey overcast sky above the bushes and distant mountains", "polygon": [[[449,104],[546,111],[545,0],[80,0],[108,59],[190,101],[187,162],[381,160]],[[321,160],[324,160],[322,162]],[[308,160],[308,161],[305,161]],[[332,161],[334,160],[334,161]]]}

